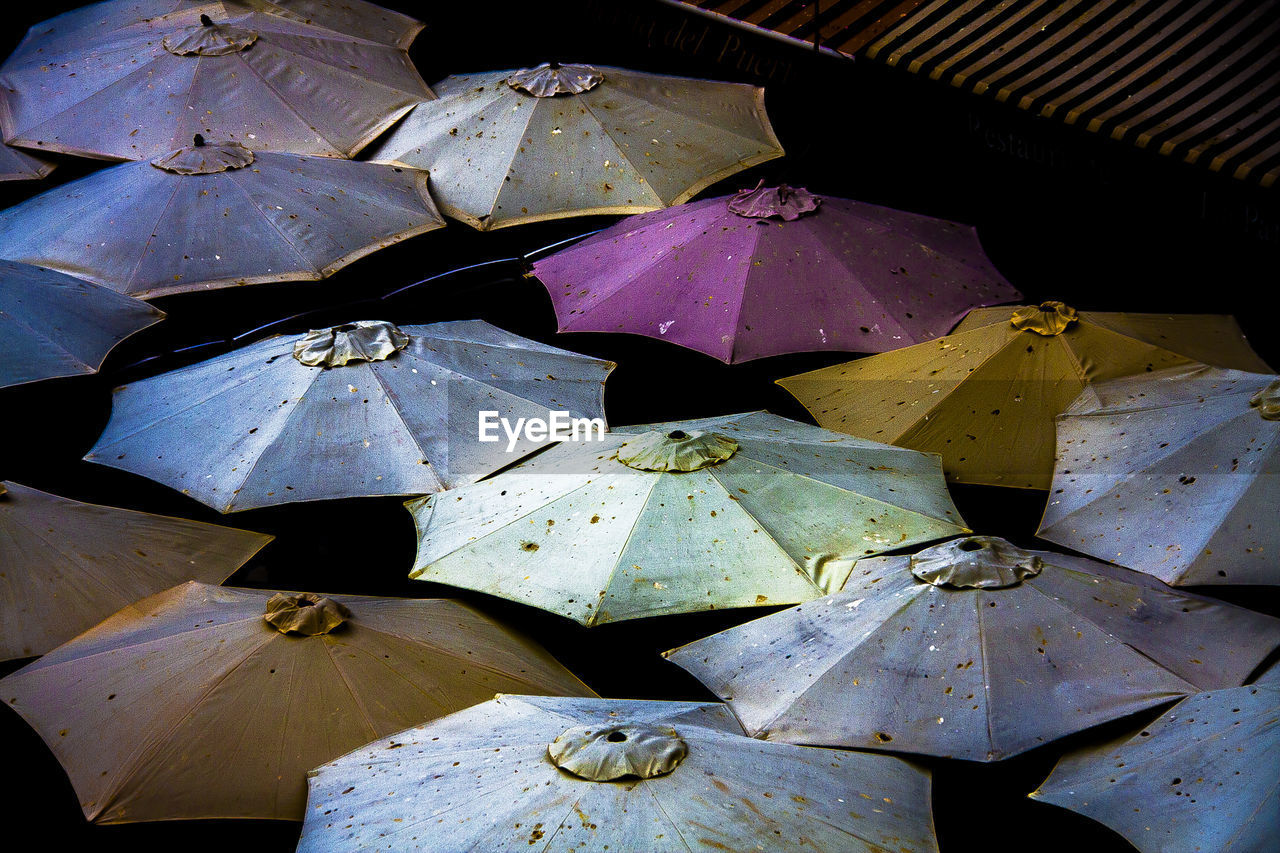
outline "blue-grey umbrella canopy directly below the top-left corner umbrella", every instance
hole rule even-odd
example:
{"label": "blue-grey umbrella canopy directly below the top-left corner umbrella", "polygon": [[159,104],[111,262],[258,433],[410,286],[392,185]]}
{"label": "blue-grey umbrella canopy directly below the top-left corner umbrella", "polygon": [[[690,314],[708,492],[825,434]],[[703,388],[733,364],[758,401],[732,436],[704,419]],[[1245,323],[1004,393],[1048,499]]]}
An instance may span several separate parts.
{"label": "blue-grey umbrella canopy directly below the top-left corner umbrella", "polygon": [[424,172],[197,137],[0,213],[0,257],[155,297],[314,280],[443,225]]}

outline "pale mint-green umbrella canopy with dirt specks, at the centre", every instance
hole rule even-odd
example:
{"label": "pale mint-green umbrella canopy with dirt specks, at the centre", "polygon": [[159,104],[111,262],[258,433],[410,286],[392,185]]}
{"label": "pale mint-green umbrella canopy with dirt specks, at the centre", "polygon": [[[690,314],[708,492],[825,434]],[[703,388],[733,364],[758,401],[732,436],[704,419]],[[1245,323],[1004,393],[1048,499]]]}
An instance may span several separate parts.
{"label": "pale mint-green umbrella canopy with dirt specks, at the centre", "polygon": [[763,411],[562,442],[406,506],[411,578],[584,625],[809,601],[860,557],[966,532],[936,456]]}

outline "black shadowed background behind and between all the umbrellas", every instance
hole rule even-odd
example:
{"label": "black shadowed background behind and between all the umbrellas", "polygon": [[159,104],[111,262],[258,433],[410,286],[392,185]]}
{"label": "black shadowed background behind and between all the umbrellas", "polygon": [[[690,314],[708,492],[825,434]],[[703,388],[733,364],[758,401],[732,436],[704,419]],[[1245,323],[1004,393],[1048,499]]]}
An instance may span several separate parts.
{"label": "black shadowed background behind and between all the umbrellas", "polygon": [[[74,5],[6,9],[0,53],[6,54],[28,26]],[[992,261],[1027,301],[1060,298],[1085,310],[1234,314],[1258,352],[1280,364],[1274,332],[1280,316],[1280,213],[1272,192],[1038,120],[902,70],[753,36],[653,0],[384,5],[428,23],[411,51],[428,82],[451,73],[561,60],[764,85],[787,156],[728,178],[703,197],[754,186],[763,177],[819,195],[972,223]],[[0,184],[0,204],[15,204],[104,165],[63,159],[44,182]],[[614,425],[755,409],[810,421],[773,380],[851,356],[809,353],[726,366],[649,338],[556,334],[550,301],[540,283],[522,277],[518,259],[614,220],[580,218],[493,233],[454,223],[365,257],[325,282],[155,300],[169,319],[118,347],[99,375],[0,391],[0,479],[83,501],[275,534],[276,540],[232,579],[234,584],[458,596],[531,633],[602,695],[712,699],[658,652],[767,611],[640,620],[588,631],[541,611],[410,583],[415,537],[399,498],[220,516],[163,485],[79,460],[106,424],[114,386],[243,346],[257,336],[238,343],[230,338],[291,316],[261,334],[353,319],[483,318],[613,360],[618,368],[607,386],[605,409]],[[484,265],[452,272],[474,264]],[[300,314],[305,316],[294,316]],[[975,530],[1037,544],[1042,493],[984,487],[959,487],[952,493]],[[360,576],[346,574],[349,558],[370,547],[378,553],[372,567]],[[1280,615],[1274,588],[1211,592]],[[17,666],[0,665],[0,674]],[[1062,748],[1126,731],[1148,717],[1083,733],[998,765],[923,762],[934,772],[942,849],[1129,849],[1105,827],[1025,794],[1043,780]],[[56,761],[8,710],[0,712],[0,744],[9,757],[0,802],[22,817],[10,825],[35,830],[42,845],[291,850],[297,838],[298,825],[264,821],[91,827]]]}

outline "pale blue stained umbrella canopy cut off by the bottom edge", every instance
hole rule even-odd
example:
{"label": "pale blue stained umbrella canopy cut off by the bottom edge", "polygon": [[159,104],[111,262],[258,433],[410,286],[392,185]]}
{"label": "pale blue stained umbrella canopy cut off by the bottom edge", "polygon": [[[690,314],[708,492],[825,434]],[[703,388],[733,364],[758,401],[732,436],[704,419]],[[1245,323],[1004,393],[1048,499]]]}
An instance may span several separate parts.
{"label": "pale blue stained umbrella canopy cut off by the bottom edge", "polygon": [[526,695],[314,770],[298,850],[552,844],[937,850],[929,776],[904,761],[753,740],[721,704]]}

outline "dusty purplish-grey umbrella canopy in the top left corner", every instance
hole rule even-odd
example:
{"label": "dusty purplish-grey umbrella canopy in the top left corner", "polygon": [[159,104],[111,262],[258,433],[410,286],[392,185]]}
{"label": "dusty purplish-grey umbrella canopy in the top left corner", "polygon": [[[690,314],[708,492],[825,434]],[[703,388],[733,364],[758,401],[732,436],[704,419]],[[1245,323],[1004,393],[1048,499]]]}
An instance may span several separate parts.
{"label": "dusty purplish-grey umbrella canopy in the top left corner", "polygon": [[351,158],[433,96],[403,46],[378,40],[380,24],[353,26],[364,12],[312,23],[284,12],[124,0],[37,24],[0,67],[5,142],[150,160],[204,133]]}

